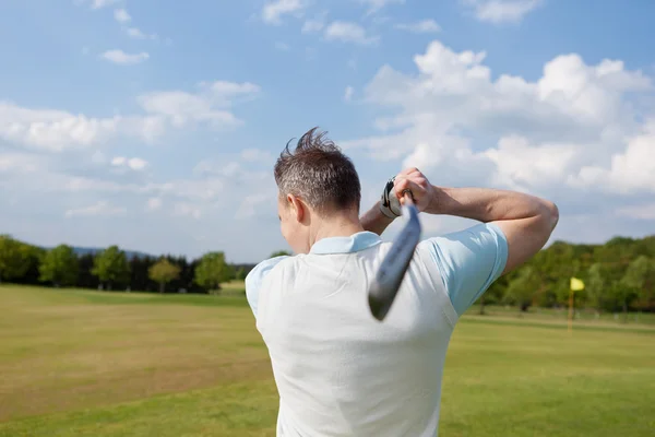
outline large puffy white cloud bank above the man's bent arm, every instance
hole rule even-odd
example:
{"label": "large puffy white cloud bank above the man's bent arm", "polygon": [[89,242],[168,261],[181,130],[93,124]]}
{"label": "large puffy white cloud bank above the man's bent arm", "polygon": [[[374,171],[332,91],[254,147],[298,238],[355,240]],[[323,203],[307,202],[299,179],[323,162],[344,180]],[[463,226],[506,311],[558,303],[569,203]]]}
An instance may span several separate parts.
{"label": "large puffy white cloud bank above the man's bent arm", "polygon": [[653,91],[651,78],[570,54],[528,81],[492,75],[485,58],[433,42],[413,72],[382,67],[364,92],[380,109],[380,133],[341,145],[417,165],[437,184],[549,193],[570,208],[590,192],[600,210],[603,196],[655,192],[655,123],[643,122],[655,114],[633,104],[633,94]]}

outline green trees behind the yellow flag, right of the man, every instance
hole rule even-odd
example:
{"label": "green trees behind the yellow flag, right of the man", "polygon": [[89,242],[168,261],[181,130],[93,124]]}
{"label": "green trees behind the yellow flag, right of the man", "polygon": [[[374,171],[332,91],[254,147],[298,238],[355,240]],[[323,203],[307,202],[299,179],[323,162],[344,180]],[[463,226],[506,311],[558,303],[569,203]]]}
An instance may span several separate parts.
{"label": "green trees behind the yellow flag, right of the man", "polygon": [[604,245],[555,241],[531,261],[501,276],[483,295],[487,304],[531,306],[569,305],[570,280],[585,287],[574,293],[576,308],[600,312],[655,311],[655,235],[615,237]]}

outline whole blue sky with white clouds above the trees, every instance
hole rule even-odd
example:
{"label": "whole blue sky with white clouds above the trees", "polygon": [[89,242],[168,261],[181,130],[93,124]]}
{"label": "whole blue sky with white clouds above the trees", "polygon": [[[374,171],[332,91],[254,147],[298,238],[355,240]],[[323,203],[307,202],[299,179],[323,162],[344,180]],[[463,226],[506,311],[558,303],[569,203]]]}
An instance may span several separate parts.
{"label": "whole blue sky with white clouds above the trees", "polygon": [[[362,210],[416,166],[552,200],[550,243],[653,235],[653,16],[651,0],[5,0],[0,233],[259,262],[288,250],[275,158],[319,127]],[[424,237],[473,224],[421,220]]]}

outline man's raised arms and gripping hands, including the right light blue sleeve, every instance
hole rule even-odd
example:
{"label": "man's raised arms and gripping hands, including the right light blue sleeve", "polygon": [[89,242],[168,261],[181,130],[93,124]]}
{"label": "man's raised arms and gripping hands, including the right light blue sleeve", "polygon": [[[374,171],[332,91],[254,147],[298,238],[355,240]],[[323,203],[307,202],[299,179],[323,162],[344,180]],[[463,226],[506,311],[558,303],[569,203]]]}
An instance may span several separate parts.
{"label": "man's raised arms and gripping hands, including the right light blue sleeve", "polygon": [[[559,218],[557,206],[547,200],[505,190],[437,187],[417,168],[407,168],[395,177],[395,193],[405,189],[412,191],[421,212],[483,222],[428,238],[418,247],[432,260],[439,271],[433,277],[436,285],[445,286],[460,316],[499,276],[536,255]],[[385,187],[383,199],[388,190]],[[403,199],[400,203],[404,203]],[[378,203],[362,220],[369,229],[383,231],[392,222],[379,212],[379,206]]]}

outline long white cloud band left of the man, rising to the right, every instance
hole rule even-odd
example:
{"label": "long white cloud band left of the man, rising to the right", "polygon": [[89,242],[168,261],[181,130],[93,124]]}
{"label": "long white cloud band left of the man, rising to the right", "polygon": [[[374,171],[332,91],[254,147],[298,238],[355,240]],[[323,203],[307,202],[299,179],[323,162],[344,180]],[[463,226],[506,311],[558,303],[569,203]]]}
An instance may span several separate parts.
{"label": "long white cloud band left of the man, rising to the right", "polygon": [[88,149],[118,135],[154,142],[168,127],[183,128],[193,122],[211,127],[243,125],[231,107],[254,98],[260,87],[250,82],[201,83],[196,93],[158,91],[138,96],[145,114],[90,117],[58,109],[32,109],[0,101],[0,139],[49,152]]}

